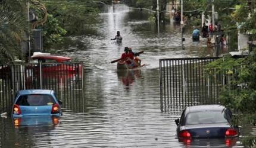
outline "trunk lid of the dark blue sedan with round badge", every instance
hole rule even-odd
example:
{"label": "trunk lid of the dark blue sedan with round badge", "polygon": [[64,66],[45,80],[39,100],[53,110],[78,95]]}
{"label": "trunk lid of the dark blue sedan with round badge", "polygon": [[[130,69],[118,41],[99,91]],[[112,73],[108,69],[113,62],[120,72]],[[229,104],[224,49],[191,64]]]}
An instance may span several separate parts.
{"label": "trunk lid of the dark blue sedan with round badge", "polygon": [[185,126],[185,130],[189,131],[192,138],[225,137],[228,128],[230,128],[230,125],[227,123]]}

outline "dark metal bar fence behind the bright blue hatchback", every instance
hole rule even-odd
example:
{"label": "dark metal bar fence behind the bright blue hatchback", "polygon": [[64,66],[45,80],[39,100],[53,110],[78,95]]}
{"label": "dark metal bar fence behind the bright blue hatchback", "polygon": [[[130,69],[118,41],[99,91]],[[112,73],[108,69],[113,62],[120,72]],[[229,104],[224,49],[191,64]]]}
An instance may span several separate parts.
{"label": "dark metal bar fence behind the bright blue hatchback", "polygon": [[83,79],[82,62],[0,65],[0,111],[11,107],[15,92],[22,89],[52,89],[71,108],[72,99],[83,101]]}

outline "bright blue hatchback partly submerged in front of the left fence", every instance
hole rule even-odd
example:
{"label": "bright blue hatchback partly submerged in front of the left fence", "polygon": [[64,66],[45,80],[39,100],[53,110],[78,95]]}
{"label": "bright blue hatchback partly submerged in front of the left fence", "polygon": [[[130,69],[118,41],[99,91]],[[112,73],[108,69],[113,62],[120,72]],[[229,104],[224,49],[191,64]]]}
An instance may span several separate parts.
{"label": "bright blue hatchback partly submerged in front of the left fence", "polygon": [[18,91],[14,98],[13,117],[31,115],[61,115],[61,101],[55,92],[46,89],[27,89]]}

